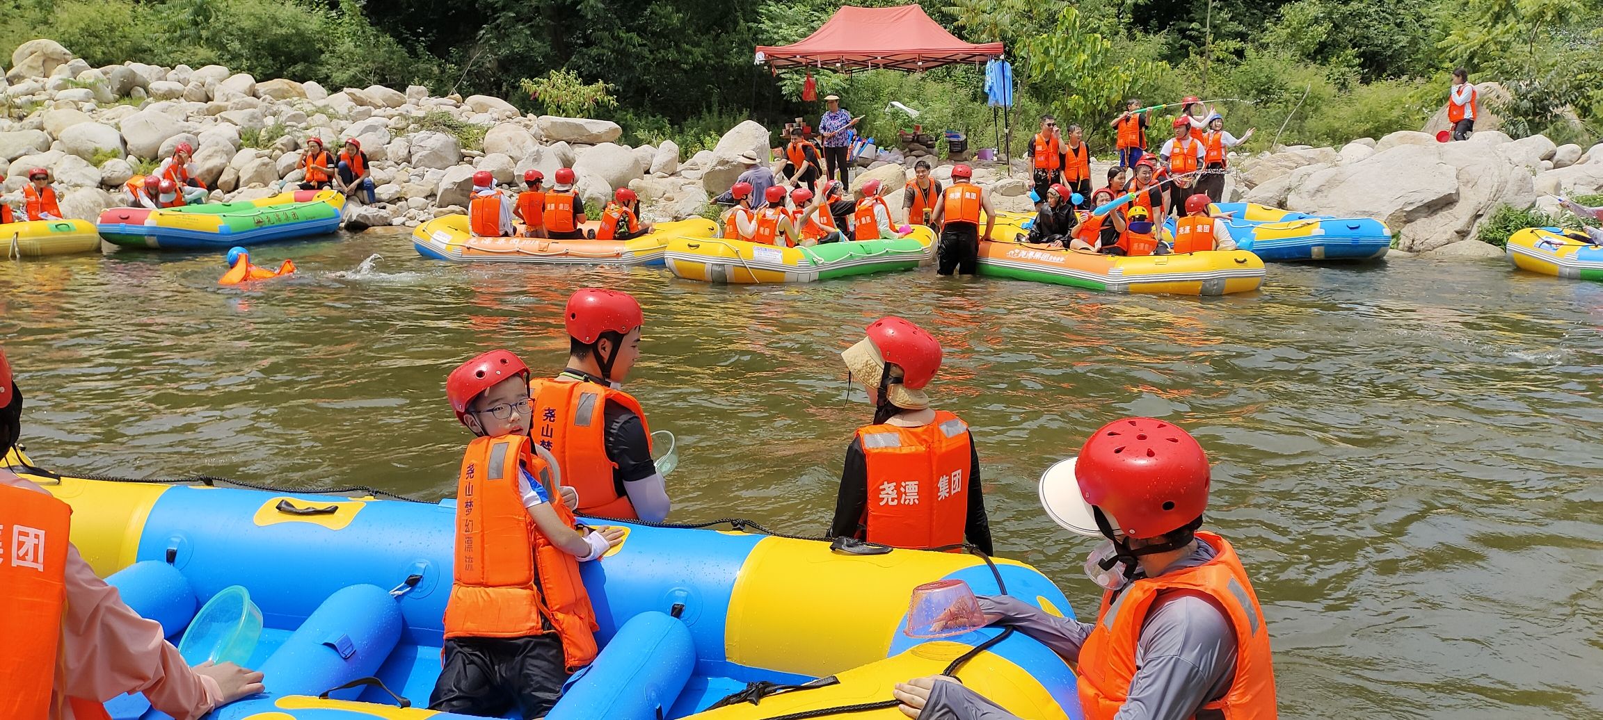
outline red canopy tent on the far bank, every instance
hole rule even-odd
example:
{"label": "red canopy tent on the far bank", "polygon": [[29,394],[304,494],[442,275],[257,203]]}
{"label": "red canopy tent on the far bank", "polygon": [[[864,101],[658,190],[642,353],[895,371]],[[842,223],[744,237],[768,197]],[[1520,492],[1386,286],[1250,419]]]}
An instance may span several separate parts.
{"label": "red canopy tent on the far bank", "polygon": [[947,64],[984,64],[1002,56],[1002,43],[965,43],[917,5],[845,6],[795,45],[758,46],[757,62],[773,67],[928,70]]}

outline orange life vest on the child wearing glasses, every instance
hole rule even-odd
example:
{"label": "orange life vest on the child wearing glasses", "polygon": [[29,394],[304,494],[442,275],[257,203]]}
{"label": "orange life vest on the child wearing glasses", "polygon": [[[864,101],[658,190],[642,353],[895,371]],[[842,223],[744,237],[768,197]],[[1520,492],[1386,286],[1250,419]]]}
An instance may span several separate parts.
{"label": "orange life vest on the child wearing glasses", "polygon": [[550,622],[574,672],[596,658],[595,608],[579,560],[553,546],[523,506],[518,475],[527,469],[553,498],[556,517],[574,525],[556,499],[551,466],[529,448],[527,435],[479,437],[462,458],[446,637],[531,637],[550,632]]}

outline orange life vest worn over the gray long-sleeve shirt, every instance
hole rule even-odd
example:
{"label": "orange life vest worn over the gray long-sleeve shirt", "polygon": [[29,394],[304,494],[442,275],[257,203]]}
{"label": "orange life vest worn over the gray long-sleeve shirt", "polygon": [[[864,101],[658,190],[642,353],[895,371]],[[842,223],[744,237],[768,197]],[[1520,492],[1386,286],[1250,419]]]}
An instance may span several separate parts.
{"label": "orange life vest worn over the gray long-sleeve shirt", "polygon": [[1141,638],[1153,602],[1167,592],[1194,592],[1213,600],[1236,630],[1236,677],[1218,701],[1199,709],[1218,710],[1231,720],[1273,720],[1274,666],[1270,653],[1270,630],[1258,608],[1247,571],[1236,549],[1213,533],[1197,533],[1218,555],[1196,568],[1141,578],[1117,597],[1103,594],[1096,624],[1080,646],[1079,694],[1085,720],[1112,720],[1124,706],[1135,678],[1135,648]]}

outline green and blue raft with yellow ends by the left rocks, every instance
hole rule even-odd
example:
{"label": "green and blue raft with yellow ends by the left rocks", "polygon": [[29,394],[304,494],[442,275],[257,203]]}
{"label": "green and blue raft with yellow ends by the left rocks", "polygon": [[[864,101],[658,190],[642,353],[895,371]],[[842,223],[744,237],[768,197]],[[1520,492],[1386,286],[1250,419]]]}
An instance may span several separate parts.
{"label": "green and blue raft with yellow ends by the left rocks", "polygon": [[340,229],[345,195],[292,190],[239,203],[181,208],[112,208],[101,213],[99,234],[130,248],[228,250],[324,235]]}

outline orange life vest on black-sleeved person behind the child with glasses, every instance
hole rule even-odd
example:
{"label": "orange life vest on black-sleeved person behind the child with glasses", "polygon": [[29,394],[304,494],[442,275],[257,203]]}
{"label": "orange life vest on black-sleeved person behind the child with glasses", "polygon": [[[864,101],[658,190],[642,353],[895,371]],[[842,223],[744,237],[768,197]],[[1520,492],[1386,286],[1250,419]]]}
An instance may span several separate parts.
{"label": "orange life vest on black-sleeved person behind the child with glasses", "polygon": [[563,482],[579,491],[579,512],[619,520],[635,520],[628,494],[612,482],[617,467],[606,454],[606,403],[616,402],[640,416],[649,443],[651,429],[640,402],[624,390],[595,382],[535,381],[535,429],[531,437],[556,456]]}

